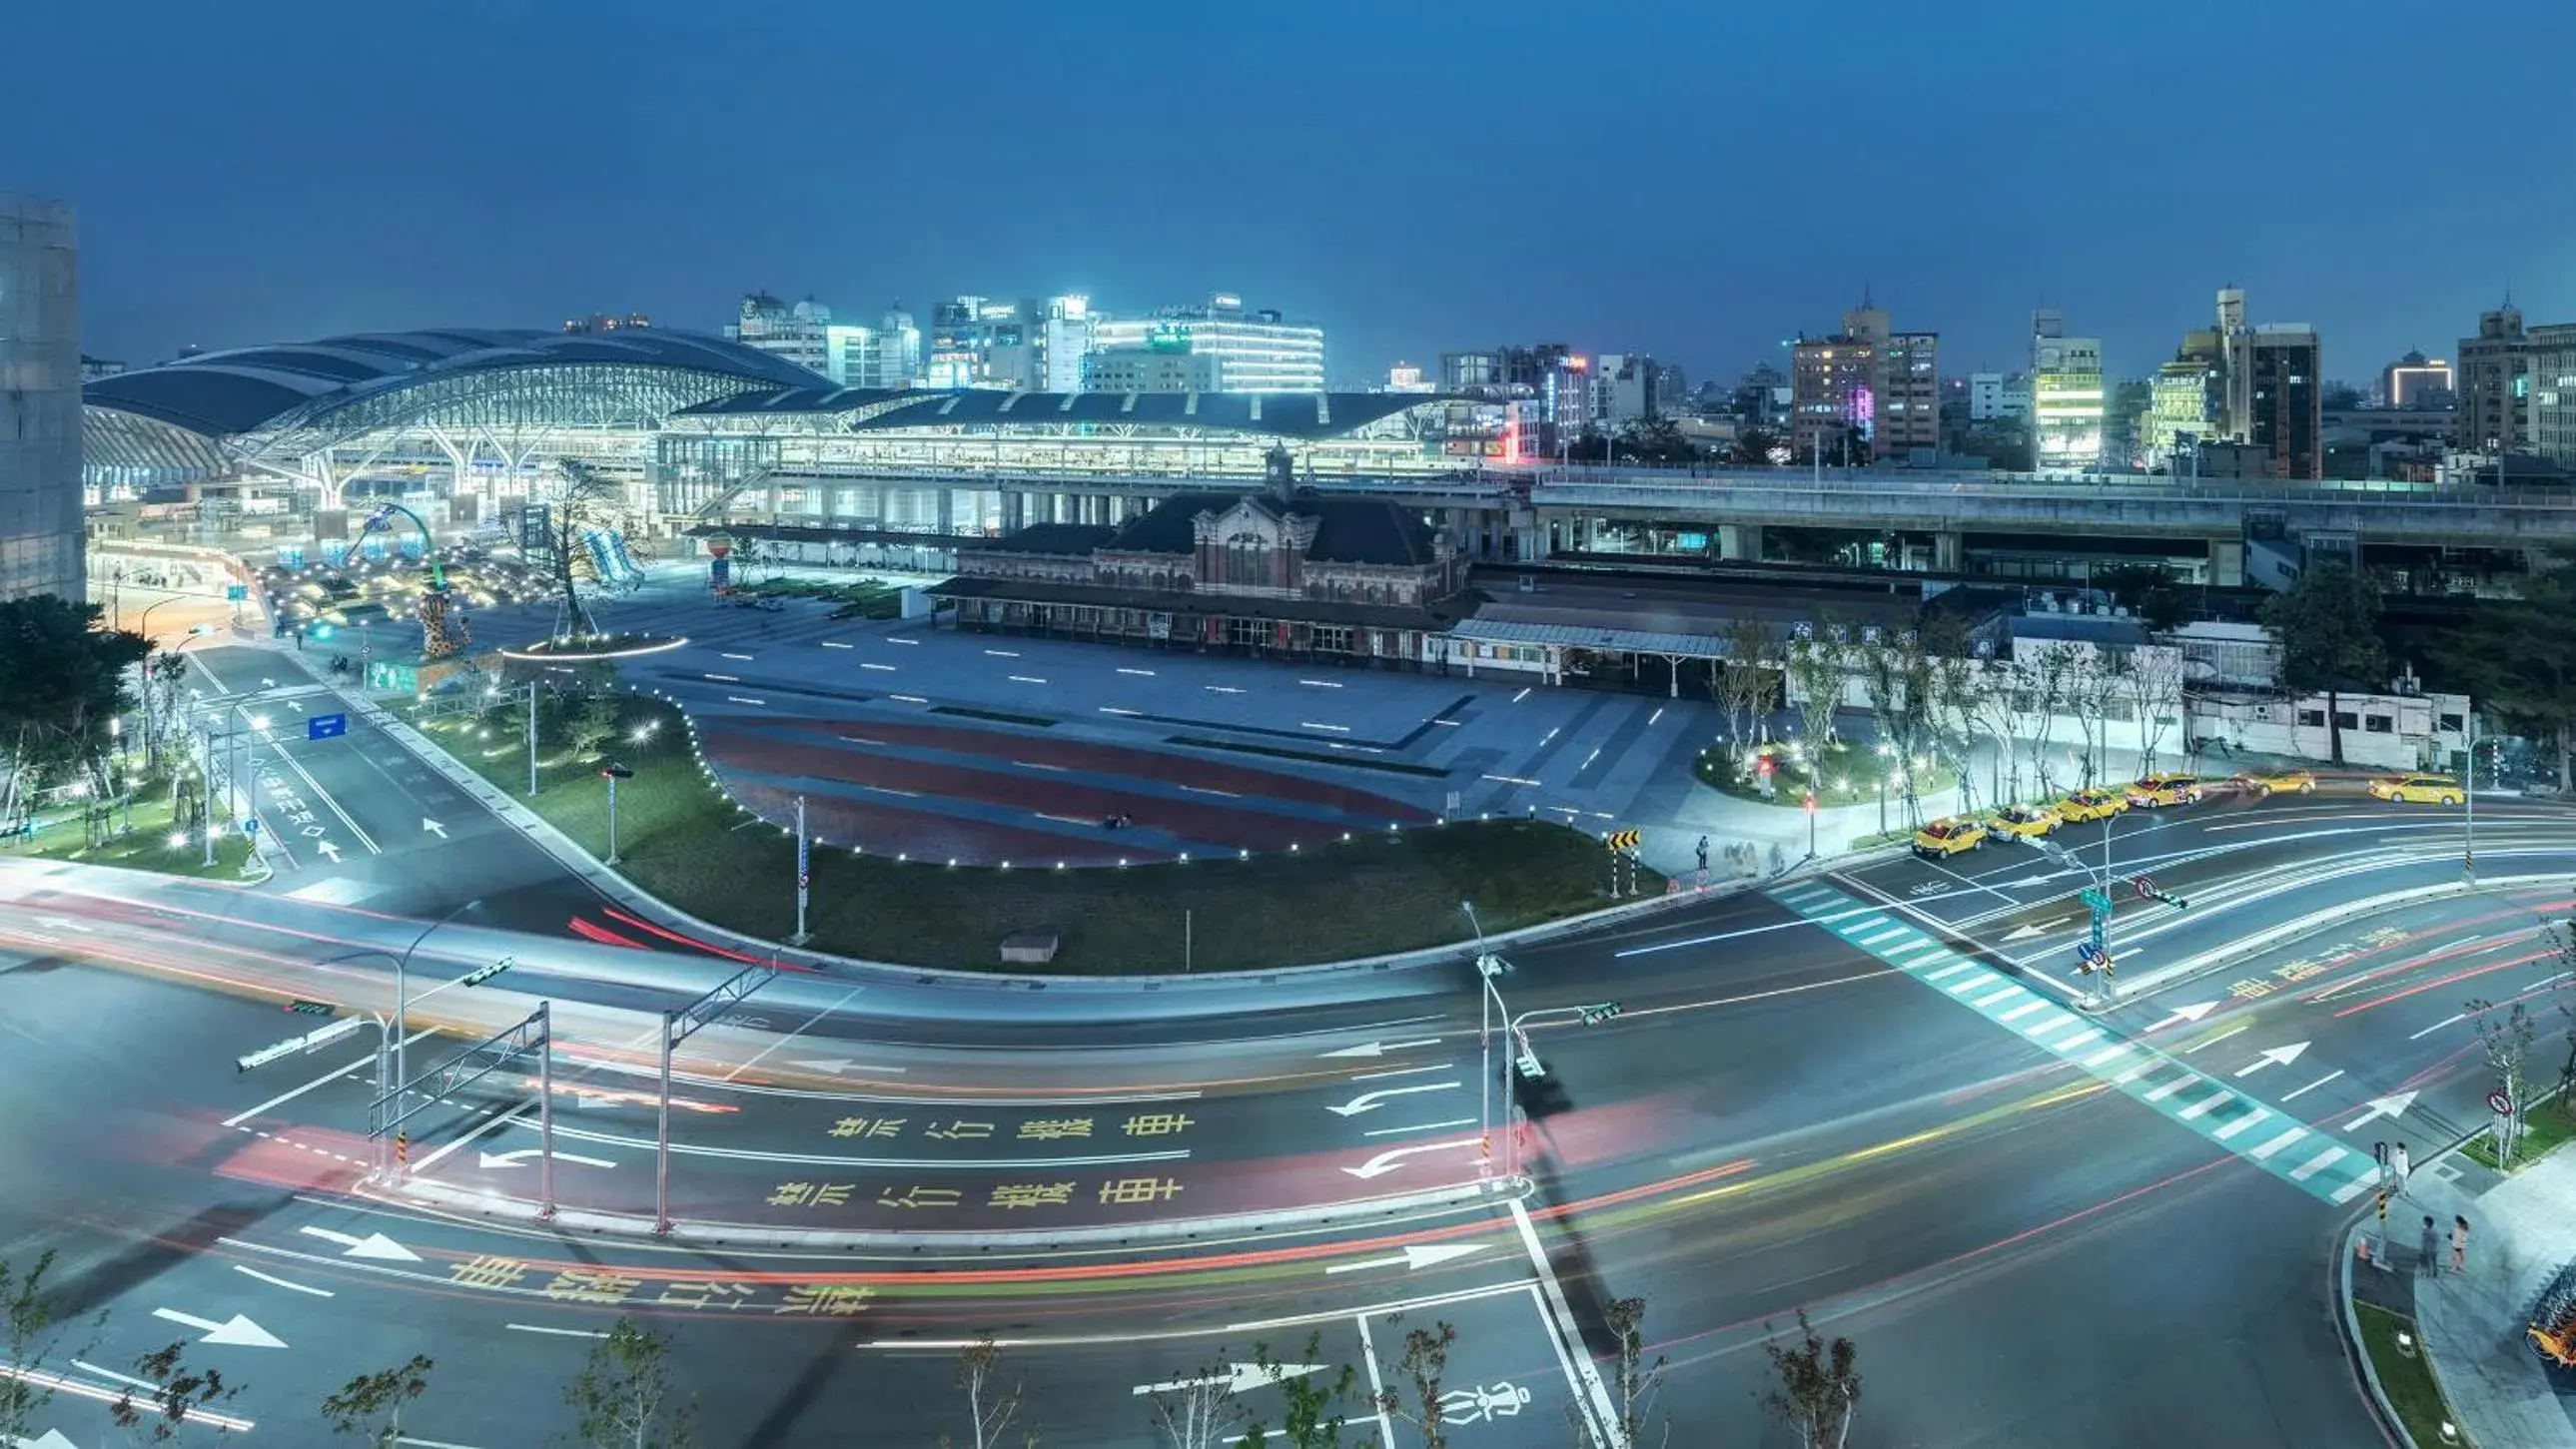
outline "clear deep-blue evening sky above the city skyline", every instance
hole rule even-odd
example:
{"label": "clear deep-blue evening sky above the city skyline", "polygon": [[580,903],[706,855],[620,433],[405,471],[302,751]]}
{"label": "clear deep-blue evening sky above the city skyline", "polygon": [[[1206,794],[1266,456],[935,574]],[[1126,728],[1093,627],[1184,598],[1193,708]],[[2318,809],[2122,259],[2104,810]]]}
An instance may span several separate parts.
{"label": "clear deep-blue evening sky above the city skyline", "polygon": [[2313,322],[2367,386],[2512,286],[2576,319],[2566,0],[70,0],[0,190],[88,350],[1236,291],[1337,381],[1566,340],[1734,378],[1868,283],[1942,368],[2061,306],[2117,373]]}

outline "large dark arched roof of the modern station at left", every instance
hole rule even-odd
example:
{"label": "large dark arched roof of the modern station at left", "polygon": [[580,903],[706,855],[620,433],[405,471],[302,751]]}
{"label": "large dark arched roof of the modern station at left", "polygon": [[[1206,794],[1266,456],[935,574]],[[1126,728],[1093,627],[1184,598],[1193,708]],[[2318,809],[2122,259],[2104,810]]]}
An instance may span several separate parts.
{"label": "large dark arched roof of the modern station at left", "polygon": [[412,389],[435,378],[592,363],[714,373],[765,389],[811,386],[814,373],[757,347],[639,327],[634,332],[358,332],[319,342],[204,353],[116,373],[82,389],[88,407],[131,412],[206,438],[237,438]]}

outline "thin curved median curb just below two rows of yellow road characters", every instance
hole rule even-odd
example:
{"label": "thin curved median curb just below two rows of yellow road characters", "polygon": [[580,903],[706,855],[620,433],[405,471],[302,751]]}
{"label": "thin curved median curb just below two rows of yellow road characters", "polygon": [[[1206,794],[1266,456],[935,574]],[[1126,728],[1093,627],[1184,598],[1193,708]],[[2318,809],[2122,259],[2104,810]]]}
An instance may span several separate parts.
{"label": "thin curved median curb just below two rows of yellow road characters", "polygon": [[688,1243],[693,1248],[781,1248],[781,1251],[811,1251],[811,1253],[860,1253],[860,1251],[920,1253],[922,1248],[956,1248],[956,1251],[992,1253],[994,1248],[1048,1251],[1048,1248],[1079,1248],[1079,1246],[1123,1248],[1141,1243],[1193,1243],[1203,1235],[1236,1235],[1236,1233],[1280,1233],[1280,1235],[1327,1233],[1334,1228],[1365,1228],[1373,1223],[1396,1223],[1404,1217],[1417,1217],[1422,1212],[1520,1202],[1530,1192],[1533,1186],[1528,1179],[1517,1181],[1494,1179],[1494,1181],[1437,1186],[1425,1192],[1406,1192],[1394,1197],[1365,1197],[1358,1202],[1340,1202],[1332,1207],[1231,1212],[1221,1217],[1175,1217],[1167,1223],[1136,1223],[1123,1228],[1064,1228],[1054,1233],[1036,1233],[1036,1230],[845,1233],[829,1228],[765,1228],[757,1223],[683,1223],[683,1220],[675,1220],[670,1225],[670,1233],[654,1233],[652,1217],[641,1212],[556,1207],[554,1217],[546,1217],[544,1212],[538,1212],[538,1204],[528,1202],[526,1197],[466,1192],[435,1181],[407,1181],[392,1192],[379,1189],[371,1197],[386,1202],[433,1204],[433,1207],[446,1207],[451,1212],[471,1212],[477,1217],[505,1220],[505,1223],[533,1223],[541,1228],[554,1228],[556,1233],[564,1235],[582,1233],[592,1238]]}

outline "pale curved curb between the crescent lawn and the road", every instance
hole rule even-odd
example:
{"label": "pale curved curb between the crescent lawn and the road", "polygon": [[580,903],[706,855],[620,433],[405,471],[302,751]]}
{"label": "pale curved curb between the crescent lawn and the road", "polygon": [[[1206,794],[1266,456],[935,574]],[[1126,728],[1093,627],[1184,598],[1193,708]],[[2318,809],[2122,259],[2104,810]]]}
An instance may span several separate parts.
{"label": "pale curved curb between the crescent lawn and the road", "polygon": [[[1471,955],[1476,950],[1473,939],[1461,939],[1461,942],[1448,942],[1448,945],[1435,945],[1435,947],[1414,947],[1414,950],[1370,955],[1370,957],[1332,960],[1332,963],[1303,963],[1303,965],[1275,965],[1275,968],[1255,968],[1255,970],[1211,970],[1211,973],[1188,973],[1188,975],[1180,975],[1180,973],[1164,973],[1164,975],[1023,975],[1023,973],[1002,973],[1002,970],[956,970],[956,968],[938,968],[938,965],[904,965],[904,963],[891,963],[891,960],[863,960],[863,957],[848,957],[848,955],[832,955],[832,952],[788,947],[788,945],[781,945],[781,942],[765,942],[765,939],[734,932],[729,927],[719,927],[714,921],[703,921],[703,919],[698,919],[698,916],[693,916],[688,911],[680,911],[680,909],[670,906],[667,901],[659,901],[659,898],[649,896],[647,891],[636,888],[629,878],[618,875],[616,870],[608,870],[595,854],[590,854],[574,839],[564,836],[554,824],[549,824],[533,808],[528,808],[526,803],[515,800],[513,795],[507,795],[505,790],[500,790],[497,785],[492,785],[489,780],[484,780],[482,775],[477,775],[474,770],[469,770],[466,764],[461,764],[459,759],[453,759],[433,739],[428,739],[425,734],[420,734],[417,728],[412,728],[410,723],[404,723],[399,715],[394,715],[394,710],[386,710],[384,705],[379,705],[376,700],[371,700],[363,692],[353,692],[348,685],[327,682],[327,687],[335,695],[340,695],[353,710],[358,710],[368,723],[374,723],[389,739],[394,739],[397,744],[402,744],[404,749],[410,749],[415,757],[422,759],[422,764],[428,764],[430,770],[435,770],[438,775],[443,775],[451,785],[456,785],[459,790],[464,790],[466,795],[471,795],[477,803],[482,803],[487,811],[492,811],[502,824],[507,824],[510,829],[515,829],[523,836],[528,836],[538,849],[544,849],[546,854],[551,854],[559,865],[564,865],[572,875],[577,875],[585,885],[590,885],[600,896],[605,896],[605,898],[611,898],[611,901],[616,901],[621,906],[629,906],[634,911],[657,916],[659,921],[688,927],[688,929],[701,932],[701,934],[706,934],[706,937],[711,937],[716,942],[724,942],[724,945],[737,945],[737,947],[752,947],[752,950],[760,950],[760,952],[773,952],[778,960],[793,960],[793,963],[817,965],[817,968],[835,968],[835,970],[902,973],[902,975],[909,975],[912,981],[938,981],[938,983],[945,983],[945,986],[984,986],[984,988],[997,988],[997,991],[1012,991],[1012,988],[1020,988],[1020,991],[1066,991],[1066,988],[1074,988],[1074,991],[1082,991],[1082,988],[1090,988],[1090,991],[1133,991],[1133,988],[1164,991],[1164,988],[1175,988],[1175,986],[1180,986],[1180,988],[1218,991],[1218,988],[1239,988],[1239,986],[1247,986],[1247,983],[1252,983],[1252,986],[1270,986],[1270,983],[1278,983],[1280,978],[1347,975],[1347,973],[1363,973],[1363,970],[1414,970],[1414,968],[1425,968],[1425,965],[1450,963],[1450,960],[1458,960],[1461,955]],[[652,690],[636,690],[636,692],[652,695]],[[672,705],[672,708],[677,708],[677,705]],[[690,749],[696,752],[698,723],[696,723],[696,718],[685,708],[680,710],[680,718],[688,723]],[[1757,888],[1777,885],[1780,880],[1788,880],[1788,878],[1798,875],[1801,870],[1819,867],[1821,860],[1826,860],[1826,857],[1793,862],[1780,875],[1739,878],[1739,880],[1728,880],[1728,883],[1718,883],[1718,885],[1705,885],[1705,888],[1677,888],[1677,891],[1667,891],[1662,896],[1646,896],[1646,898],[1638,898],[1638,901],[1620,901],[1615,906],[1602,906],[1597,911],[1582,911],[1582,914],[1574,914],[1574,916],[1558,916],[1553,921],[1538,921],[1538,924],[1530,924],[1530,927],[1517,927],[1517,929],[1510,929],[1510,932],[1497,932],[1497,934],[1484,937],[1484,945],[1489,950],[1543,945],[1543,942],[1564,937],[1564,934],[1582,934],[1582,932],[1589,932],[1589,929],[1597,929],[1597,927],[1607,927],[1607,924],[1618,924],[1618,921],[1628,921],[1628,919],[1654,916],[1656,911],[1672,911],[1672,909],[1680,909],[1680,906],[1687,906],[1687,903],[1713,901],[1713,898],[1721,898],[1721,896],[1728,896],[1728,893],[1736,893],[1736,891],[1757,891]]]}

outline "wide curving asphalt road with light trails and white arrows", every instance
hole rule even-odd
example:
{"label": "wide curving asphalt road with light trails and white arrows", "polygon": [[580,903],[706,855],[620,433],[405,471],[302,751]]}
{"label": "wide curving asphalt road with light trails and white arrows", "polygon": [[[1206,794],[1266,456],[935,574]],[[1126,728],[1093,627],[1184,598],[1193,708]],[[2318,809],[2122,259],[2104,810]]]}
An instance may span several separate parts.
{"label": "wide curving asphalt road with light trails and white arrows", "polygon": [[[216,687],[296,697],[260,685],[273,664],[245,674],[234,654],[276,659],[209,651]],[[415,1027],[471,1035],[554,1001],[556,1145],[611,1163],[564,1158],[559,1194],[634,1207],[652,1135],[636,1042],[652,1011],[734,965],[562,939],[556,906],[580,909],[582,888],[541,852],[363,741],[348,759],[330,744],[270,749],[345,811],[314,811],[327,829],[379,844],[343,852],[366,872],[325,878],[415,896],[0,875],[18,1042],[0,1078],[28,1104],[0,1143],[15,1168],[0,1241],[10,1259],[64,1251],[77,1305],[108,1313],[82,1354],[95,1369],[206,1333],[188,1320],[255,1323],[196,1354],[240,1377],[232,1413],[268,1444],[317,1441],[322,1392],[415,1349],[440,1369],[412,1434],[538,1441],[587,1336],[618,1313],[675,1333],[716,1444],[961,1434],[951,1369],[979,1331],[1005,1338],[1005,1377],[1025,1380],[1025,1423],[1048,1444],[1141,1444],[1151,1405],[1136,1390],[1151,1385],[1221,1372],[1275,1413],[1278,1387],[1234,1369],[1255,1346],[1321,1364],[1309,1380],[1352,1364],[1365,1382],[1373,1361],[1409,1390],[1401,1333],[1432,1320],[1458,1328],[1453,1444],[1564,1444],[1566,1408],[1600,1403],[1584,1361],[1610,1349],[1607,1302],[1631,1295],[1669,1356],[1674,1441],[1785,1444],[1754,1405],[1759,1343],[1808,1307],[1860,1343],[1855,1444],[2370,1444],[2329,1318],[2329,1230],[2367,1207],[2375,1140],[2411,1135],[2427,1156],[2478,1125],[2468,999],[2543,993],[2563,970],[2537,934],[2563,891],[2488,885],[2208,960],[2089,1017],[2066,1009],[2087,986],[2066,970],[2079,872],[2017,847],[1868,862],[1510,952],[1502,993],[1538,1017],[1551,1081],[1528,1094],[1540,1114],[1517,1210],[1195,1241],[1115,1233],[1208,1204],[1473,1181],[1473,973],[1198,986],[1180,1011],[1131,993],[974,993],[961,1009],[917,981],[783,975],[757,1024],[690,1042],[675,1120],[675,1199],[762,1230],[726,1248],[580,1238],[366,1192],[371,1032],[252,1073],[232,1058],[309,1029],[281,999],[381,1009],[379,957],[317,963],[399,950],[417,934],[399,916],[479,896],[415,955],[415,991],[435,988]],[[2458,880],[2439,854],[2455,831],[2458,813],[2329,798],[2123,821],[2120,872],[2148,870],[2192,906],[2123,898],[2112,939],[2136,955],[2120,973],[2151,983],[2339,903]],[[2566,839],[2561,811],[2481,808],[2488,880],[2576,870]],[[513,865],[513,844],[528,860]],[[495,952],[523,965],[487,988],[435,986]],[[1569,1022],[1613,999],[1615,1019]],[[459,1045],[415,1042],[412,1071]],[[526,1094],[492,1086],[422,1117],[412,1161],[443,1156],[415,1171],[528,1192]],[[845,1122],[866,1125],[835,1135]],[[1030,1122],[1056,1127],[1023,1138]],[[999,1204],[1002,1186],[1059,1181],[1064,1202]],[[979,1251],[994,1225],[1064,1241]],[[778,1228],[958,1238],[822,1248],[778,1246]],[[90,1400],[46,1413],[82,1449],[106,1439]]]}

